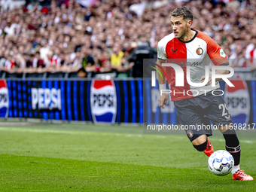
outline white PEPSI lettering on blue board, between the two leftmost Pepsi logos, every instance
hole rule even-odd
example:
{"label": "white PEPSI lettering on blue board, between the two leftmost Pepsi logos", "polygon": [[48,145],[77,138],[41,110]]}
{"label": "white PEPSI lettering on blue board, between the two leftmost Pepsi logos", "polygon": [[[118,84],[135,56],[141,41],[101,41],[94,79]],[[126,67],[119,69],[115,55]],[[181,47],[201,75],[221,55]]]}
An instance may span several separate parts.
{"label": "white PEPSI lettering on blue board, between the two leftmost Pepsi logos", "polygon": [[32,109],[50,109],[58,108],[61,110],[61,93],[60,89],[42,89],[32,88]]}

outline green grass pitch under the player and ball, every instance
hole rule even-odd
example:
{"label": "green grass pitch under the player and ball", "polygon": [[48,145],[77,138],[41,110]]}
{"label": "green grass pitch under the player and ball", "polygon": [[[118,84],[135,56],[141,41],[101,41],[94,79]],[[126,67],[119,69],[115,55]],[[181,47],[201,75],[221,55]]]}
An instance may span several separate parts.
{"label": "green grass pitch under the player and ball", "polygon": [[[241,168],[256,178],[253,131],[239,139]],[[142,133],[141,126],[0,126],[0,191],[255,190],[255,181],[213,175],[186,136]],[[221,134],[210,140],[224,149]]]}

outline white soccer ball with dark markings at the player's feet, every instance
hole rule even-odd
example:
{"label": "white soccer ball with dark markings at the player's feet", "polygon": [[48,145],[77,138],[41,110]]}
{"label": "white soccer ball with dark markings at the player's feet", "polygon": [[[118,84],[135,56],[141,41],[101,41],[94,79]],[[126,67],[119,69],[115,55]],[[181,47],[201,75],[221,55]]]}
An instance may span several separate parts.
{"label": "white soccer ball with dark markings at the player's feet", "polygon": [[234,166],[232,155],[224,150],[215,151],[208,159],[210,171],[218,176],[224,176],[231,172]]}

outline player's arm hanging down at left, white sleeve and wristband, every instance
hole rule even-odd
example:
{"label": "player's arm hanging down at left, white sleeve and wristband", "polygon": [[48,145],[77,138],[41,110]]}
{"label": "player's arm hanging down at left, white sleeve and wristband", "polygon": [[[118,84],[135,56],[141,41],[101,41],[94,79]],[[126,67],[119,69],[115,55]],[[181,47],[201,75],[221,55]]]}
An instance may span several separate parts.
{"label": "player's arm hanging down at left, white sleeve and wristband", "polygon": [[[165,50],[166,50],[165,45],[161,41],[159,41],[157,46],[157,65],[161,66],[162,69],[166,72],[166,67],[162,66],[162,62],[165,62],[165,60],[167,59]],[[164,75],[162,69],[160,69],[159,67],[157,67],[157,69],[158,69],[158,72],[160,72],[161,74],[160,75],[157,73],[159,90],[160,90],[160,94],[158,96],[158,102],[159,102],[160,108],[164,108],[163,105],[166,105],[168,101],[168,94],[161,93],[161,90],[166,90],[166,76]]]}

